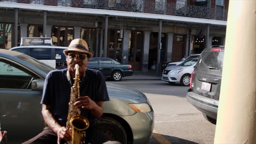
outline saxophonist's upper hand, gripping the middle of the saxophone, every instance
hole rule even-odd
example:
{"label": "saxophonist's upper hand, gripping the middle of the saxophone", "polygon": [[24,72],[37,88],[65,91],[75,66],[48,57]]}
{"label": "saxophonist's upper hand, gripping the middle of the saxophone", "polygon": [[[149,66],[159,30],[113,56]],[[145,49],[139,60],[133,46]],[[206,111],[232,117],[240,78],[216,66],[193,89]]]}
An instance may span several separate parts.
{"label": "saxophonist's upper hand, gripping the middle of the saxophone", "polygon": [[79,97],[75,99],[74,106],[77,108],[82,107],[83,109],[93,110],[97,104],[91,100],[88,96]]}

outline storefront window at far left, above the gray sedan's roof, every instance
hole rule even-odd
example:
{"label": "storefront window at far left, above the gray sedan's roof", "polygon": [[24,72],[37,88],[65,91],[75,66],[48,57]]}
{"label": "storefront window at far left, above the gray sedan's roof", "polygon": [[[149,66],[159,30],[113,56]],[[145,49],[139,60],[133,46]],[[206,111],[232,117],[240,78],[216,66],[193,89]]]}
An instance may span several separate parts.
{"label": "storefront window at far left, above the gray sedan's roof", "polygon": [[0,49],[10,49],[12,47],[13,24],[0,23]]}

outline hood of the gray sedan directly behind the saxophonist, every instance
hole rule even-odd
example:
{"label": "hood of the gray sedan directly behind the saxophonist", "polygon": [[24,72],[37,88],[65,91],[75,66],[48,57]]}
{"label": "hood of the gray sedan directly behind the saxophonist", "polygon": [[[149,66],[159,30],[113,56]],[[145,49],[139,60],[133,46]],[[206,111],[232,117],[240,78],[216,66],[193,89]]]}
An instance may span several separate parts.
{"label": "hood of the gray sedan directly behind the saxophonist", "polygon": [[110,98],[124,99],[127,103],[147,103],[147,97],[142,92],[129,87],[107,83]]}

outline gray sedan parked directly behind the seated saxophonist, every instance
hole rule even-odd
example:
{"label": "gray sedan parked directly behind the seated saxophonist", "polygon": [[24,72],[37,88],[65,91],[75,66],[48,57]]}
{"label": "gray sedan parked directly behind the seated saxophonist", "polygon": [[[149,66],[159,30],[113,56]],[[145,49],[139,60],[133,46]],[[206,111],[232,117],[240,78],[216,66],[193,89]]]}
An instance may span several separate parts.
{"label": "gray sedan parked directly behind the seated saxophonist", "polygon": [[[8,143],[21,143],[44,128],[40,99],[50,66],[24,53],[0,49],[0,122]],[[107,83],[110,101],[103,104],[98,129],[122,143],[148,143],[154,111],[143,93]]]}

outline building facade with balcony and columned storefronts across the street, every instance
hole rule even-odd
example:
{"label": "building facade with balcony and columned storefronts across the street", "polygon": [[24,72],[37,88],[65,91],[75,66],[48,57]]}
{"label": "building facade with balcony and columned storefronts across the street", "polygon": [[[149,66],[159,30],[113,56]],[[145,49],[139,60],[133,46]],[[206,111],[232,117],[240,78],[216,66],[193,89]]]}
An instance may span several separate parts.
{"label": "building facade with balcony and columned storefronts across the street", "polygon": [[0,48],[21,37],[75,38],[94,56],[147,71],[225,44],[229,0],[9,0],[0,1]]}

